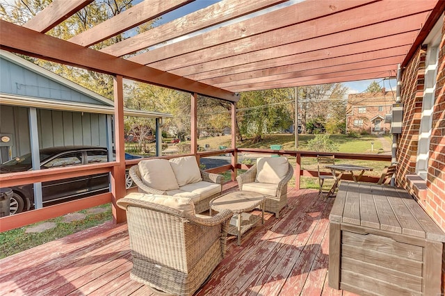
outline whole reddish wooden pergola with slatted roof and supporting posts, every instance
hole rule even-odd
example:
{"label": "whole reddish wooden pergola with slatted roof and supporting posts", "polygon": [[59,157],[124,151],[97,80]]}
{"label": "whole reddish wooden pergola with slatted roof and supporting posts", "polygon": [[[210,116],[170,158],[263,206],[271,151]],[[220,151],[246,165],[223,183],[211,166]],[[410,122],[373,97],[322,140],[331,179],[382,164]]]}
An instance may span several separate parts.
{"label": "whole reddish wooden pergola with slatted roof and supporting posts", "polygon": [[192,1],[145,0],[70,40],[45,33],[92,0],[54,0],[24,26],[0,21],[1,49],[115,77],[113,200],[125,193],[124,78],[192,94],[196,154],[197,94],[232,102],[233,124],[238,92],[394,77],[445,8],[439,0],[223,0],[89,48]]}

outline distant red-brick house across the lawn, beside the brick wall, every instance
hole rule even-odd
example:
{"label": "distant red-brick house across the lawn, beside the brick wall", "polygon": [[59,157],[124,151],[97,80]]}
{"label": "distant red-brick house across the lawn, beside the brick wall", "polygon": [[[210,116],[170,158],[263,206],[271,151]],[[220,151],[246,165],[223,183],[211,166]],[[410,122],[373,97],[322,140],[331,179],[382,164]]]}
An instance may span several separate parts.
{"label": "distant red-brick house across the lawn, beside the brick wall", "polygon": [[346,105],[346,133],[389,133],[391,124],[385,123],[385,115],[391,114],[396,92],[362,92],[349,94]]}

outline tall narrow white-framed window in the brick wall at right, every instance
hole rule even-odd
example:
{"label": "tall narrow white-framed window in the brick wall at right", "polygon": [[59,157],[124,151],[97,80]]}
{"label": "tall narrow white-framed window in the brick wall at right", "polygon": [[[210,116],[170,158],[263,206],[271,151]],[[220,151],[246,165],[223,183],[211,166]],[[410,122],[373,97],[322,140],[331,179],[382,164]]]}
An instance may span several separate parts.
{"label": "tall narrow white-framed window in the brick wall at right", "polygon": [[417,148],[416,174],[426,180],[430,153],[432,129],[432,111],[435,103],[437,62],[439,60],[439,42],[441,40],[441,22],[437,22],[430,35],[426,38],[428,49],[425,60],[425,86]]}

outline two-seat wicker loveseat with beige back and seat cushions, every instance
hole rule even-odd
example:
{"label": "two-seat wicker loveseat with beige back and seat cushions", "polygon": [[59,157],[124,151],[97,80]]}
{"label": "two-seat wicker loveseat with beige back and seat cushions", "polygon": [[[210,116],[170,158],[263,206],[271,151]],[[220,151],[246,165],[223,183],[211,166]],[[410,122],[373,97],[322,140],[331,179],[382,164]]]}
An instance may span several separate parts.
{"label": "two-seat wicker loveseat with beige back and seat cushions", "polygon": [[223,176],[200,170],[195,156],[140,161],[129,174],[139,192],[191,198],[196,213],[209,210],[223,190]]}

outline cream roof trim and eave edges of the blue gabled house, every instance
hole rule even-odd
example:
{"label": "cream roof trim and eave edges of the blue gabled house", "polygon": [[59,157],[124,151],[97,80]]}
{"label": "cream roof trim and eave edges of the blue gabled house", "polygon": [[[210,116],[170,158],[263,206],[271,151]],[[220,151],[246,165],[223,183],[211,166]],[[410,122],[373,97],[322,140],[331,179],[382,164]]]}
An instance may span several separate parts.
{"label": "cream roof trim and eave edges of the blue gabled house", "polygon": [[[36,74],[46,77],[51,81],[55,81],[56,83],[60,83],[60,85],[64,85],[67,88],[75,90],[81,94],[90,97],[98,101],[102,106],[97,104],[86,104],[80,101],[62,101],[60,99],[54,100],[45,97],[31,97],[31,96],[23,96],[18,94],[7,94],[0,92],[1,104],[13,105],[13,106],[28,106],[35,108],[47,108],[51,110],[70,110],[77,112],[88,112],[88,113],[101,113],[101,114],[113,114],[114,113],[114,102],[106,97],[102,97],[96,92],[92,92],[87,88],[83,88],[83,86],[76,84],[68,79],[63,78],[57,74],[54,74],[43,67],[35,65],[24,58],[20,58],[15,54],[11,54],[8,51],[0,50],[0,57],[9,60],[10,62],[19,65],[25,69],[29,69],[31,72],[35,72]],[[136,116],[136,117],[152,117],[152,118],[161,118],[161,117],[172,117],[171,114],[168,113],[158,113],[158,112],[150,112],[144,110],[131,110],[128,108],[124,108],[124,115],[127,116]]]}

